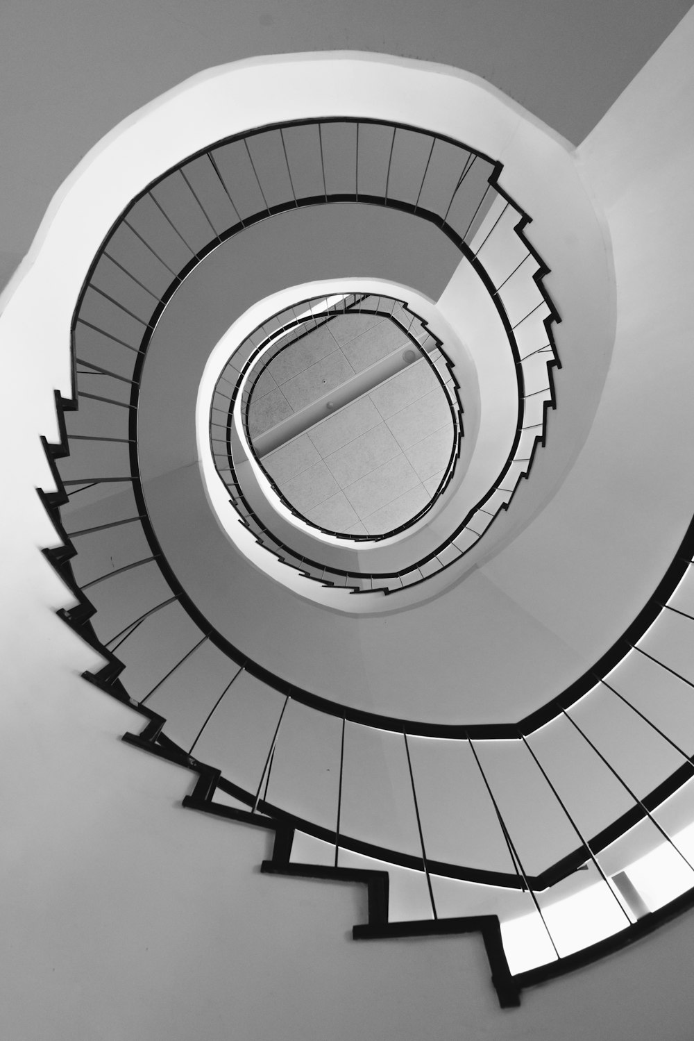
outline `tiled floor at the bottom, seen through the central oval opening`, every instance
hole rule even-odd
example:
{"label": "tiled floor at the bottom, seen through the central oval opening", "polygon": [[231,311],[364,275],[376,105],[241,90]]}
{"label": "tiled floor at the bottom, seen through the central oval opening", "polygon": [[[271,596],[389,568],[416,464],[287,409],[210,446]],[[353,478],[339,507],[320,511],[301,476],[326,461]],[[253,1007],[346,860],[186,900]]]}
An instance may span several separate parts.
{"label": "tiled floor at the bottom, seen through the central oval opening", "polygon": [[414,316],[395,301],[402,323],[368,305],[342,298],[281,336],[249,374],[242,416],[284,503],[320,530],[362,538],[428,510],[452,472],[459,429],[409,332]]}

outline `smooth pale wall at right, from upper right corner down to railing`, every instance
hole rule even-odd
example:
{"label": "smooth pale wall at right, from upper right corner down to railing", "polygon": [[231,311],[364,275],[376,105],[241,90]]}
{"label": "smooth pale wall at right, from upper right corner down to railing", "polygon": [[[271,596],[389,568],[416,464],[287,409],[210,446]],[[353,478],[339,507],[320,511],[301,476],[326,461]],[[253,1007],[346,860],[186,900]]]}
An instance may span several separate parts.
{"label": "smooth pale wall at right, from upper right corner down to railing", "polygon": [[[484,567],[572,646],[590,640],[607,648],[626,628],[694,512],[687,477],[694,443],[693,47],[690,11],[577,151],[612,243],[618,310],[610,372],[590,436],[561,490]],[[583,581],[603,589],[609,575],[608,599],[595,609],[576,595],[575,582],[560,580],[567,574],[563,556],[588,540],[594,552]],[[554,586],[540,589],[542,568]]]}

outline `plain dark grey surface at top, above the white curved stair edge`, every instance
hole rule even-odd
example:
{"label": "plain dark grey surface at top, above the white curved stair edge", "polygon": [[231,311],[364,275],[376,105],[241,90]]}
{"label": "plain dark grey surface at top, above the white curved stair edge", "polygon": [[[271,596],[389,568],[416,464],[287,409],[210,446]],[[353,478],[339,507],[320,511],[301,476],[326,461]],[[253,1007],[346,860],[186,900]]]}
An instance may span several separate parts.
{"label": "plain dark grey surface at top, above the white curved stair edge", "polygon": [[0,285],[53,193],[131,111],[214,65],[355,49],[469,69],[580,141],[689,0],[5,0]]}

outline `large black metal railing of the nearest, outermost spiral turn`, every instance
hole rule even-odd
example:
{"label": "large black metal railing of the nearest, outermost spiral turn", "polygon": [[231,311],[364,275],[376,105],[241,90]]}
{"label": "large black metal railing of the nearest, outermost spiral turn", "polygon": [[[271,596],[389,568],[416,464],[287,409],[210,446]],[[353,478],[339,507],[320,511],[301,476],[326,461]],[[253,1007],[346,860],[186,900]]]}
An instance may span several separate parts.
{"label": "large black metal railing of the nearest, outermost spiral turn", "polygon": [[[324,146],[325,125],[310,125]],[[352,126],[355,133],[361,128],[361,123],[350,121],[332,121],[331,125],[333,131],[338,125]],[[402,128],[378,126],[379,132],[390,136],[392,153]],[[289,171],[288,128],[216,145],[148,187],[122,215],[95,258],[75,311],[74,401],[57,400],[61,441],[46,445],[57,491],[43,493],[43,499],[62,539],[60,548],[46,555],[77,600],[76,607],[60,613],[106,661],[91,677],[93,682],[138,707],[150,719],[143,741],[151,751],[189,765],[201,778],[208,778],[210,769],[204,761],[215,762],[208,785],[214,812],[221,812],[223,796],[235,799],[254,818],[316,840],[333,868],[346,870],[355,857],[361,857],[366,858],[364,863],[390,865],[393,877],[401,868],[415,872],[429,902],[429,913],[422,917],[431,922],[452,917],[452,898],[442,884],[446,880],[493,887],[493,913],[507,920],[521,913],[521,904],[526,905],[543,923],[558,956],[561,944],[552,937],[546,913],[554,893],[574,879],[582,884],[594,881],[607,887],[624,924],[617,936],[581,954],[584,960],[598,957],[641,935],[667,913],[664,908],[650,912],[651,918],[634,921],[637,916],[614,881],[628,868],[626,855],[620,853],[627,832],[632,836],[643,832],[644,848],[664,841],[691,867],[689,854],[677,839],[676,818],[679,814],[682,819],[691,819],[694,734],[689,734],[682,720],[694,676],[675,666],[660,640],[662,631],[674,626],[683,627],[682,638],[691,639],[689,627],[694,617],[685,609],[679,592],[692,581],[694,522],[663,581],[622,636],[584,676],[516,722],[434,725],[351,709],[273,675],[216,632],[169,565],[143,494],[137,408],[149,340],[163,307],[186,275],[235,230],[289,205],[380,198],[362,194],[363,185],[353,194],[344,185],[344,191],[333,192],[326,146],[320,153],[325,192],[299,196],[290,178],[291,203],[274,202],[254,162],[258,158],[254,141],[257,145],[261,133],[279,135]],[[452,223],[456,193],[447,205],[427,209],[423,187],[439,138],[421,134],[421,139],[430,143],[429,155],[415,201],[406,203],[394,197],[391,156],[380,204],[410,207],[410,212],[438,223],[448,237],[457,236],[467,255],[467,240],[483,214],[487,187],[468,212],[465,228]],[[238,155],[248,156],[264,200],[262,209],[253,210],[251,203],[241,205],[240,196],[235,199],[230,192],[233,185],[225,149],[232,145]],[[495,183],[500,168],[471,152],[468,156],[463,174],[456,179],[456,192],[474,164],[485,162],[485,183],[491,189],[489,178]],[[204,181],[205,176],[209,181]],[[212,178],[219,185],[215,205],[226,205],[234,223],[225,225],[213,210],[212,197],[204,195],[204,184],[211,193]],[[181,213],[173,206],[174,198],[181,201]],[[511,205],[507,202],[503,212]],[[151,219],[148,234],[140,220],[143,207]],[[195,207],[198,225],[191,217]],[[203,234],[200,225],[205,222]],[[533,263],[537,277],[544,269],[537,258]],[[498,299],[499,287],[484,277]],[[538,305],[539,311],[543,309]],[[539,350],[545,353],[551,346],[552,320],[549,309],[541,321],[548,348]],[[508,316],[506,324],[510,325]],[[518,360],[522,363],[520,354]],[[522,374],[519,380],[522,386]],[[545,399],[545,405],[550,400],[550,396]],[[536,437],[531,436],[534,447]],[[514,459],[530,463],[531,456],[532,452],[528,459]],[[68,504],[81,497],[96,507],[103,487],[112,484],[122,485],[122,492],[101,501],[98,523],[72,527],[72,514],[66,514],[63,523],[60,511]],[[109,566],[115,554],[118,566]],[[148,648],[155,645],[156,675],[148,654]],[[653,685],[659,687],[658,701],[648,696]],[[204,697],[196,700],[195,710],[185,697],[192,688],[204,692]],[[666,702],[670,716],[659,718]],[[250,729],[235,729],[229,720],[225,723],[226,713],[251,719],[253,707],[259,715],[253,717]],[[629,726],[638,722],[641,727],[638,755],[629,758],[620,740],[610,744],[609,735],[599,728],[600,713],[606,711],[621,713],[624,727],[627,720]],[[557,756],[552,742],[564,742],[566,747],[568,734],[574,754]],[[380,764],[386,760],[394,764],[391,780],[400,779],[389,787],[379,781]],[[586,796],[597,791],[599,799]],[[466,887],[465,893],[470,892],[482,906],[482,890]],[[458,893],[456,899],[467,913],[468,897]],[[690,903],[691,895],[685,894],[672,910]],[[576,957],[562,957],[552,966],[521,973],[518,982],[530,984],[543,972],[548,975],[562,971],[562,966],[570,968]]]}

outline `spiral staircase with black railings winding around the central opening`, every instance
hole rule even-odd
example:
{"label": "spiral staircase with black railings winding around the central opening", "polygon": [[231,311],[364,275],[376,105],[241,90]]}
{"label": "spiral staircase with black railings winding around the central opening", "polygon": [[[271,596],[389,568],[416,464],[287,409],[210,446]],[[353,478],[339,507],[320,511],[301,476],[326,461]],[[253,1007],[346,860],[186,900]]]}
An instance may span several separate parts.
{"label": "spiral staircase with black railings winding around the central opening", "polygon": [[[623,502],[615,531],[632,509],[632,445],[581,414],[611,360],[609,322],[589,344],[583,307],[605,263],[599,213],[552,156],[575,235],[554,249],[544,157],[502,160],[465,117],[440,127],[431,99],[395,118],[397,77],[433,74],[377,65],[370,115],[343,100],[349,70],[314,115],[323,73],[298,62],[301,115],[253,113],[200,147],[182,133],[176,161],[132,174],[136,192],[104,189],[75,264],[72,393],[55,396],[59,439],[43,439],[58,536],[44,552],[75,600],[58,614],[103,660],[85,678],[143,717],[127,743],[189,771],[183,807],[269,832],[267,874],[365,886],[355,939],[481,934],[499,1004],[517,1006],[694,903],[694,520],[686,496],[676,516],[662,497],[662,538],[628,587],[634,555],[606,563],[607,528],[582,544],[547,527],[573,478],[576,527],[599,512],[577,483],[590,437]],[[329,320],[336,295],[341,313],[389,300],[420,315],[460,396],[446,480],[385,538],[316,534],[239,476],[242,377],[309,302]],[[546,563],[535,586],[529,530],[529,566]],[[512,607],[480,586],[487,568],[508,595],[505,567],[522,587]],[[548,637],[528,605],[549,603],[562,567]],[[595,624],[565,653],[572,596]]]}

